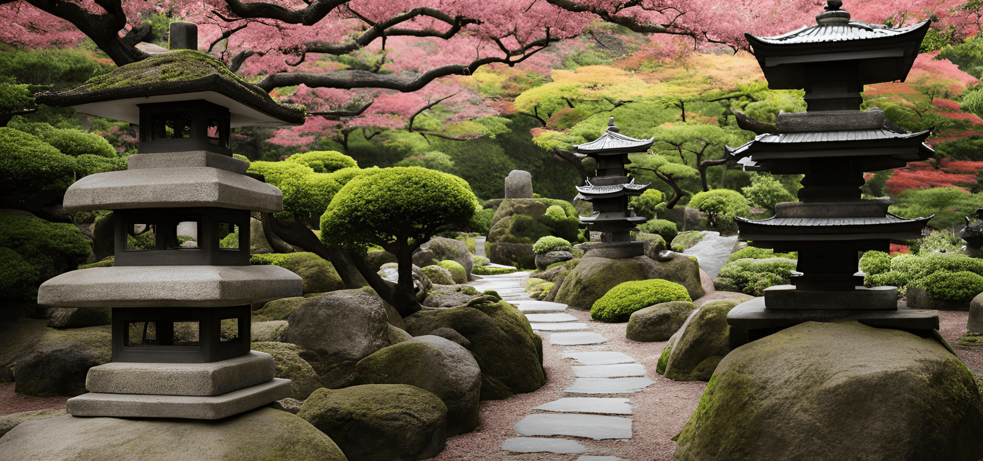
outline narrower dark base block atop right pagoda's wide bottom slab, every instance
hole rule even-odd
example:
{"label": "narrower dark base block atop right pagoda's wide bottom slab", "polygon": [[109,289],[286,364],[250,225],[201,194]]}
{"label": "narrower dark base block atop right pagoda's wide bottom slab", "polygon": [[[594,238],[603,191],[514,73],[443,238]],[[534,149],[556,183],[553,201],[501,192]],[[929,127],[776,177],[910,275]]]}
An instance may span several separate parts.
{"label": "narrower dark base block atop right pagoda's wide bottom slab", "polygon": [[796,289],[795,285],[777,285],[765,289],[765,307],[782,310],[862,310],[897,309],[897,288],[893,286],[858,286],[853,291],[819,291]]}

